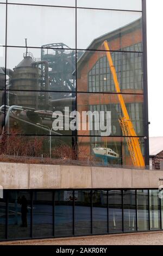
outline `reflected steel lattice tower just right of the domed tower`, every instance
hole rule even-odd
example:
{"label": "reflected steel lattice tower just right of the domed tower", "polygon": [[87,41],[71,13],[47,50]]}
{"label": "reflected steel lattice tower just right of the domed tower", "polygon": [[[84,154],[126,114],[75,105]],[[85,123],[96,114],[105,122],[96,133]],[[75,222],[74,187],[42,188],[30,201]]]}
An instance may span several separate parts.
{"label": "reflected steel lattice tower just right of the domed tower", "polygon": [[[63,43],[42,45],[41,60],[46,60],[49,66],[49,90],[63,91],[52,93],[52,99],[70,97],[70,91],[75,88],[76,52]],[[43,76],[43,67],[41,74]]]}

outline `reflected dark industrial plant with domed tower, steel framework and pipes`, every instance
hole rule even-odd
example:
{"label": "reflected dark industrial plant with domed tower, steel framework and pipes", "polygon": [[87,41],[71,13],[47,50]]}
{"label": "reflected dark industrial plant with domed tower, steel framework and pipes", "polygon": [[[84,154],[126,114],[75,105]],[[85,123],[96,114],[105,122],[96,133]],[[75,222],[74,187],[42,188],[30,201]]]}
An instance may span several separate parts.
{"label": "reflected dark industrial plant with domed tower, steel framework and pipes", "polygon": [[[1,93],[1,119],[4,118],[5,111],[8,133],[13,128],[21,129],[27,135],[36,134],[38,129],[42,134],[49,133],[53,112],[64,108],[65,104],[71,107],[75,103],[76,98],[70,93],[75,87],[74,63],[75,52],[62,43],[42,46],[41,58],[36,59],[28,52],[26,40],[26,53],[23,54],[22,61],[13,70],[6,70],[8,79],[5,107],[4,92]],[[2,67],[0,89],[4,87],[5,69]],[[1,125],[3,130],[3,120]],[[52,134],[61,135],[54,131]]]}

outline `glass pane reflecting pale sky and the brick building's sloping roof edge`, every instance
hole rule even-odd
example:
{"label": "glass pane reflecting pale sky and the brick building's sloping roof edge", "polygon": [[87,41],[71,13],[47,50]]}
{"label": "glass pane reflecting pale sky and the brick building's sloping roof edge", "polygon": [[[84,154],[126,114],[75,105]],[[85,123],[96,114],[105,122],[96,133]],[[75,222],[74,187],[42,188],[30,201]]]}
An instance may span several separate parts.
{"label": "glass pane reflecting pale sky and the brick building's sloping roof edge", "polygon": [[[110,50],[121,50],[142,38],[141,13],[110,10],[77,10],[77,48],[97,50],[104,40]],[[127,46],[126,46],[127,45]]]}

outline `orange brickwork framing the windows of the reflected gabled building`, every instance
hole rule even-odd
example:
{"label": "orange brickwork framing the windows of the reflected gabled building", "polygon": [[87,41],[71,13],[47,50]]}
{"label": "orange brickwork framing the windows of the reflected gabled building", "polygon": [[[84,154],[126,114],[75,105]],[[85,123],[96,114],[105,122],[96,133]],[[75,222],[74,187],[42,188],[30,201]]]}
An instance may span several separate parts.
{"label": "orange brickwork framing the windows of the reflected gabled building", "polygon": [[[128,34],[122,35],[121,38],[116,38],[114,40],[109,41],[109,46],[110,49],[113,51],[120,50],[121,48],[129,47],[134,44],[139,44],[142,41],[142,32],[140,29],[136,29],[133,32],[130,32]],[[78,111],[80,112],[80,115],[82,116],[83,111],[89,111],[90,105],[108,105],[108,104],[118,104],[118,97],[116,94],[98,94],[98,93],[86,93],[89,88],[88,88],[88,74],[90,70],[93,68],[93,66],[97,63],[97,61],[106,56],[105,52],[98,51],[98,50],[104,50],[103,47],[103,42],[102,44],[97,48],[97,51],[92,51],[90,53],[90,57],[86,59],[84,62],[84,65],[82,69],[79,70],[78,72],[78,77],[77,77],[77,84],[78,84],[78,92],[83,92],[83,93],[78,93],[77,94],[77,102],[78,102]],[[89,51],[89,50],[88,50]],[[84,93],[85,92],[85,93]],[[142,90],[135,90],[135,89],[123,89],[122,93],[137,93],[137,95],[124,95],[124,101],[125,103],[139,103],[143,102],[143,91]],[[118,120],[117,120],[118,121]],[[88,124],[87,124],[88,125]],[[79,143],[82,151],[85,151],[85,158],[92,159],[93,156],[91,156],[91,139],[90,137],[82,137],[83,135],[89,136],[90,131],[78,131],[78,135],[81,136],[79,137]],[[125,146],[126,140],[121,137],[102,137],[101,142],[102,144],[107,141],[107,144],[109,146],[110,143],[121,143],[122,142],[122,162],[123,164],[130,165],[132,166],[132,161],[131,157],[125,154]],[[127,147],[127,146],[126,146]],[[81,156],[82,158],[82,156]]]}

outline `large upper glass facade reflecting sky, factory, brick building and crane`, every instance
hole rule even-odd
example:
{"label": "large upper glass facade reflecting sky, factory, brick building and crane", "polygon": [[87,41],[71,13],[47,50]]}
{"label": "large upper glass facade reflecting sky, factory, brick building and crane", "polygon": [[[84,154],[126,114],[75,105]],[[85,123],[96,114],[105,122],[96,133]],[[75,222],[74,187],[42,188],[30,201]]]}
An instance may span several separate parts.
{"label": "large upper glass facade reflecting sky, factory, brick building and crane", "polygon": [[141,0],[0,1],[0,154],[144,167],[144,12]]}

